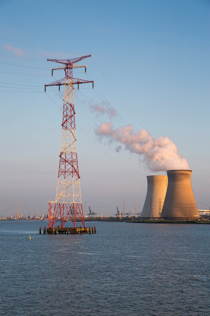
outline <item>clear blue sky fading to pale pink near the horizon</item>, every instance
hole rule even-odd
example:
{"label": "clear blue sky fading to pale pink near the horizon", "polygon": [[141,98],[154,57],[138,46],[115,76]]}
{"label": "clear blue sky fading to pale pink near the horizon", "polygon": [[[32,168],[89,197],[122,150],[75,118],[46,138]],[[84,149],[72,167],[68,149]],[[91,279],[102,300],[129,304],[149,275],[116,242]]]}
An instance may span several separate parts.
{"label": "clear blue sky fading to pale pink near the horizon", "polygon": [[32,207],[43,214],[55,199],[62,98],[54,87],[43,91],[64,72],[51,77],[46,59],[86,54],[95,89],[75,89],[83,208],[87,202],[99,215],[113,215],[125,200],[126,211],[134,201],[141,211],[153,174],[136,155],[96,137],[102,119],[90,104],[102,100],[120,115],[115,128],[125,122],[173,140],[192,169],[198,208],[209,208],[209,12],[205,0],[2,0],[0,216],[13,215],[15,201],[26,215]]}

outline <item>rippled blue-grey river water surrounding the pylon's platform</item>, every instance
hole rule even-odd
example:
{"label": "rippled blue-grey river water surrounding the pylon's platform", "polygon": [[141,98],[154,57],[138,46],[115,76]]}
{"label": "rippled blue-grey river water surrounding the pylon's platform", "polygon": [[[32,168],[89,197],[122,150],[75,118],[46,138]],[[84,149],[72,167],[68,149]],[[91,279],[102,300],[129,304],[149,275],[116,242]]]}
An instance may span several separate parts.
{"label": "rippled blue-grey river water surrounding the pylon's platform", "polygon": [[210,225],[46,223],[0,221],[0,315],[210,315]]}

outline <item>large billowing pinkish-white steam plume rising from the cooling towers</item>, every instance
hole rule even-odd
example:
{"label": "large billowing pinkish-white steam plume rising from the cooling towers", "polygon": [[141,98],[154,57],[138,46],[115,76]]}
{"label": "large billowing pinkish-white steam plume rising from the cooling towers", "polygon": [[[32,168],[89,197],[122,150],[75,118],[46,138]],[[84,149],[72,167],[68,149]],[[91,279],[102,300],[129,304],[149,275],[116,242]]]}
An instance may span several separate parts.
{"label": "large billowing pinkish-white steam plume rising from the cooling towers", "polygon": [[[125,150],[140,155],[145,165],[153,171],[190,169],[187,159],[178,153],[177,146],[168,136],[155,139],[144,129],[134,133],[131,124],[114,129],[111,122],[102,123],[96,132],[124,144]],[[121,149],[122,145],[116,147],[117,152]]]}

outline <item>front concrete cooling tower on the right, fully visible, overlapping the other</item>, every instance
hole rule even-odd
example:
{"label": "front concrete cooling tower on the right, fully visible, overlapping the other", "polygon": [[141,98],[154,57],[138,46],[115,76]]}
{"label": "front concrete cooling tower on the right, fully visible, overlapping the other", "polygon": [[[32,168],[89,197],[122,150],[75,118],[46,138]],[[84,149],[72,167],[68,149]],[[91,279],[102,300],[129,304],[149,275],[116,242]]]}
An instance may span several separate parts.
{"label": "front concrete cooling tower on the right, fully visible, overlapping the other", "polygon": [[192,170],[169,170],[168,187],[161,217],[165,219],[200,218],[191,186]]}

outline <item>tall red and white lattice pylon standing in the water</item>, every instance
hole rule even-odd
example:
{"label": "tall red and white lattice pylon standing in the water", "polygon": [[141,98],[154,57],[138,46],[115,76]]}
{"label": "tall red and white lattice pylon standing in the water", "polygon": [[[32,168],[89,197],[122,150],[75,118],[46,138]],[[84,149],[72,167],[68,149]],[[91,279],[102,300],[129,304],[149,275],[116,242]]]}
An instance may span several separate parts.
{"label": "tall red and white lattice pylon standing in the water", "polygon": [[[62,64],[60,67],[52,68],[52,75],[53,70],[64,69],[65,71],[65,78],[44,85],[44,91],[46,91],[46,87],[48,86],[59,86],[60,90],[60,86],[64,85],[63,122],[61,124],[62,138],[58,184],[55,201],[48,202],[49,228],[53,228],[53,225],[58,217],[61,217],[61,227],[63,227],[67,218],[70,218],[75,228],[77,217],[80,218],[83,226],[85,227],[77,161],[73,85],[77,84],[79,89],[79,84],[88,82],[92,82],[93,84],[93,81],[73,78],[73,69],[85,67],[86,72],[85,65],[82,66],[75,63],[90,56],[91,55],[86,55],[72,59],[47,59],[48,61]],[[53,204],[55,204],[54,208]]]}

